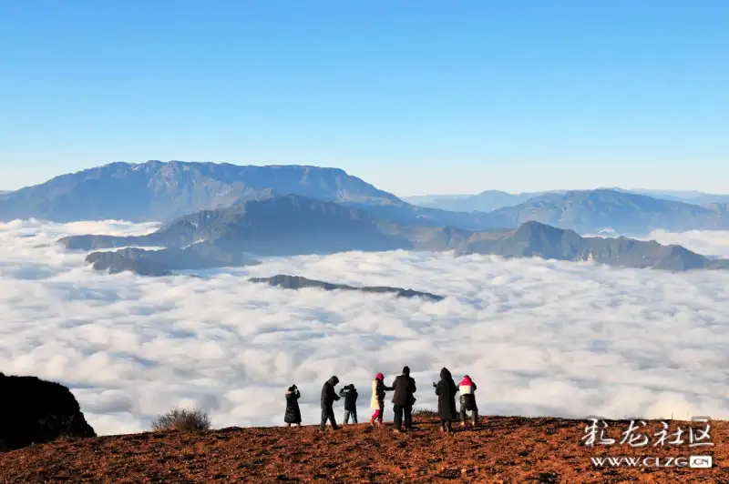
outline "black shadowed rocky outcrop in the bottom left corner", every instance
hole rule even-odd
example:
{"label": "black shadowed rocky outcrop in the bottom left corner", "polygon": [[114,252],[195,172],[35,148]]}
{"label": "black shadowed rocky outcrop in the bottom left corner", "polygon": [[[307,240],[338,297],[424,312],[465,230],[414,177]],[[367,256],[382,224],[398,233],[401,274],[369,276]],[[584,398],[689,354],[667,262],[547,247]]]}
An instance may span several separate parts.
{"label": "black shadowed rocky outcrop in the bottom left corner", "polygon": [[0,450],[59,437],[96,437],[71,391],[52,381],[0,373]]}

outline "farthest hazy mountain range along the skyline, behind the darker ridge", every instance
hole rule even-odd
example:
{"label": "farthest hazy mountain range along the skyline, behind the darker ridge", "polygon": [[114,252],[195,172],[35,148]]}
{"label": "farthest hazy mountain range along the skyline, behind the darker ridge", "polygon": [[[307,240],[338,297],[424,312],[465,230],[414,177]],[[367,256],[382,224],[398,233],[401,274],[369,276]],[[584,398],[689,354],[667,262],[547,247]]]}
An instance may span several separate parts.
{"label": "farthest hazy mountain range along the skyline, behind the darker ridge", "polygon": [[478,231],[516,228],[527,221],[539,221],[582,234],[611,229],[641,237],[655,228],[729,229],[729,212],[726,202],[721,202],[723,196],[693,192],[664,195],[694,201],[702,197],[719,200],[698,206],[606,188],[518,195],[488,191],[466,198],[443,196],[437,202],[441,207],[418,207],[339,168],[181,161],[138,165],[119,162],[56,176],[44,184],[1,195],[0,221],[34,217],[57,222],[171,222],[204,210],[288,195],[334,202],[365,212],[379,222],[403,226]]}

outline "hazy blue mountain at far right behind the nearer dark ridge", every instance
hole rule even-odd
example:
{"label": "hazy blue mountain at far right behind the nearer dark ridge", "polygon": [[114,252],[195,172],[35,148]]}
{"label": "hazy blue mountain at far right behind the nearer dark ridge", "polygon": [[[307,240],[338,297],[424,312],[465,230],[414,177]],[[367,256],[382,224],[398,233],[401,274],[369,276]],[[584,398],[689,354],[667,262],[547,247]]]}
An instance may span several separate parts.
{"label": "hazy blue mountain at far right behind the nearer dark ridge", "polygon": [[657,228],[676,232],[729,229],[729,216],[721,211],[611,189],[546,194],[489,215],[501,227],[537,221],[581,234],[605,228],[635,236]]}

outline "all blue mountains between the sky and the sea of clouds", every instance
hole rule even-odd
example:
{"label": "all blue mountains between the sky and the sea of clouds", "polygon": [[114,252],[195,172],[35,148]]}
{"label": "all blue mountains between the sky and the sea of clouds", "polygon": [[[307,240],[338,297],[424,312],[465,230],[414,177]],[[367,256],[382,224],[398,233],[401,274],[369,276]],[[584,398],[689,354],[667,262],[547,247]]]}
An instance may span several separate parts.
{"label": "all blue mountains between the sky and the sea of clouds", "polygon": [[99,270],[150,276],[257,264],[256,257],[395,249],[670,270],[726,267],[683,247],[580,237],[604,229],[641,235],[729,228],[720,203],[701,207],[608,188],[477,197],[483,207],[526,199],[489,212],[457,212],[416,207],[339,168],[149,161],[112,163],[6,194],[0,218],[166,222],[146,236],[61,240],[71,249],[118,249],[87,256]]}

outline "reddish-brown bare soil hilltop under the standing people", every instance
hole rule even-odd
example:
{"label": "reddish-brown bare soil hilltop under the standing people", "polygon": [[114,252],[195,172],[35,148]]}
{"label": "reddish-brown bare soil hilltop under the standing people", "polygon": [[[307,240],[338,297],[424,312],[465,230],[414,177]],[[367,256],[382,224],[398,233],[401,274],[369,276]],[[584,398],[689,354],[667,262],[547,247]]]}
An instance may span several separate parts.
{"label": "reddish-brown bare soil hilltop under the standing people", "polygon": [[[364,408],[362,408],[364,410]],[[364,413],[361,418],[364,417]],[[337,418],[340,418],[337,415]],[[8,482],[727,482],[729,425],[713,421],[714,447],[635,448],[580,445],[586,422],[560,418],[488,417],[478,429],[437,432],[416,416],[412,434],[366,424],[320,432],[316,427],[220,429],[59,440],[0,454]],[[628,428],[628,422],[609,422]],[[389,424],[387,424],[389,425]],[[671,431],[688,422],[671,422]],[[651,422],[660,429],[658,422]],[[652,438],[653,440],[655,438]],[[590,457],[676,458],[710,455],[711,469],[596,467]],[[665,462],[665,460],[663,460]]]}

